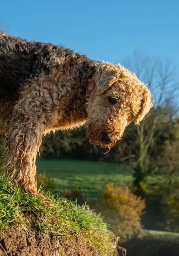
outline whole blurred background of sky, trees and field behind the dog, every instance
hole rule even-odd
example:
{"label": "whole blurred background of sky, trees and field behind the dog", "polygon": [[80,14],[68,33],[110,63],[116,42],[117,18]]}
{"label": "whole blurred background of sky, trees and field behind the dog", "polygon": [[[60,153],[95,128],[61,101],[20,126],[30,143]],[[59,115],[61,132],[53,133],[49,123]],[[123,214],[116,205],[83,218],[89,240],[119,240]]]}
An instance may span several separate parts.
{"label": "whole blurred background of sky, trees and field behind the dog", "polygon": [[[37,184],[102,212],[128,256],[179,256],[179,2],[9,0],[0,30],[120,63],[155,107],[108,154],[84,127],[43,139]],[[3,152],[3,134],[0,153]]]}

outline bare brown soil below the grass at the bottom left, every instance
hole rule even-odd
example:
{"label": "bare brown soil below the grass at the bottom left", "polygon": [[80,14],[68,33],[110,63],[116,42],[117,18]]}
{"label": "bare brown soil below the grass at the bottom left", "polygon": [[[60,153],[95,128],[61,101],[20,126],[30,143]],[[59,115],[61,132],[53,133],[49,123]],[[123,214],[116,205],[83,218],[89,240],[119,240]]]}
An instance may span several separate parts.
{"label": "bare brown soil below the grass at the bottom left", "polygon": [[[57,236],[37,236],[35,231],[13,227],[0,232],[0,256],[92,256],[79,239],[70,241]],[[67,250],[68,248],[68,250]]]}

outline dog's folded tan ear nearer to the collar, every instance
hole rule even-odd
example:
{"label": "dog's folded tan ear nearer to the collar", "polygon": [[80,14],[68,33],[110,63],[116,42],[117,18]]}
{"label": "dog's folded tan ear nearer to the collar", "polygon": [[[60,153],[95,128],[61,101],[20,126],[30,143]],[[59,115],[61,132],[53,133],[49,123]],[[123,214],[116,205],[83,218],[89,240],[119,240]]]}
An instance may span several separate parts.
{"label": "dog's folded tan ear nearer to the collar", "polygon": [[119,78],[117,70],[101,69],[97,71],[95,83],[97,85],[97,94],[104,93]]}

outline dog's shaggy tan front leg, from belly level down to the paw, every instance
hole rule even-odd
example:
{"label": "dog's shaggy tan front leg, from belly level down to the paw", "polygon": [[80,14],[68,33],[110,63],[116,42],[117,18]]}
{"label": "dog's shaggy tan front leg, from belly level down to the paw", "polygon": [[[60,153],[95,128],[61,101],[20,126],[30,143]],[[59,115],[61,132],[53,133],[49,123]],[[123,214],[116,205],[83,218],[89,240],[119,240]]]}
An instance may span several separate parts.
{"label": "dog's shaggy tan front leg, from belly level down to the paw", "polygon": [[18,181],[25,192],[34,196],[38,195],[35,160],[42,137],[42,124],[31,122],[30,125],[27,119],[17,119],[11,123],[5,139],[7,162],[4,168],[8,170],[14,183]]}

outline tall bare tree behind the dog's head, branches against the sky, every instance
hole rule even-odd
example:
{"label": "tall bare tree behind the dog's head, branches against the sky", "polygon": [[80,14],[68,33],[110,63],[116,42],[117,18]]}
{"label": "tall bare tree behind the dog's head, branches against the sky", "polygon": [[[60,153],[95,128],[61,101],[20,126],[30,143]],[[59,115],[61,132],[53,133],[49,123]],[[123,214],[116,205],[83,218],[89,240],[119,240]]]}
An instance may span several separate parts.
{"label": "tall bare tree behind the dog's head, branches against the sky", "polygon": [[146,166],[147,152],[164,129],[172,125],[173,118],[178,112],[176,98],[179,95],[179,80],[173,62],[168,59],[150,58],[134,52],[133,57],[126,59],[123,64],[148,85],[155,99],[154,109],[145,117],[141,125],[136,127],[138,154],[131,160],[134,165],[136,193],[143,195],[146,187],[145,177],[152,170],[149,171]]}

